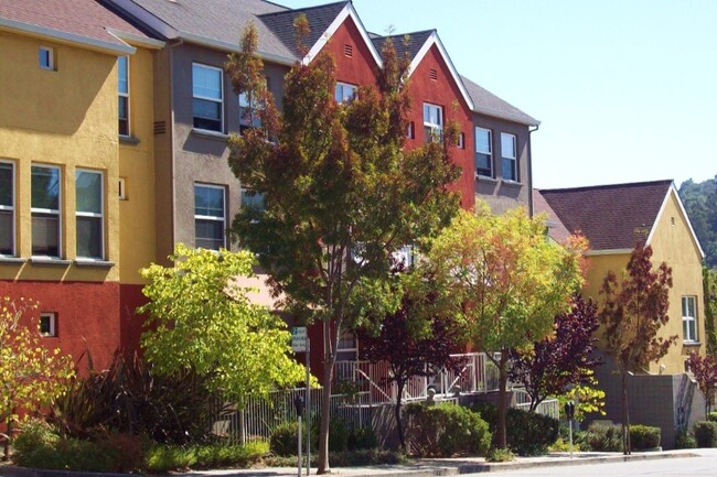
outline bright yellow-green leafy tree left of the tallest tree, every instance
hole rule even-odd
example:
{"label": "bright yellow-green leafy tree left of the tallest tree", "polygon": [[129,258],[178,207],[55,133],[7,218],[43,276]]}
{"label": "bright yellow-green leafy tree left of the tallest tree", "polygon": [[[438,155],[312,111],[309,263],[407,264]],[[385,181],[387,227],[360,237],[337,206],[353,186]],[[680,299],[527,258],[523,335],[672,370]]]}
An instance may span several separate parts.
{"label": "bright yellow-green leafy tree left of the tallest tree", "polygon": [[303,367],[289,356],[286,323],[236,284],[252,275],[252,253],[179,243],[170,260],[173,267],[141,270],[149,302],[139,312],[150,318],[141,344],[157,372],[211,376],[213,389],[239,403],[303,379]]}

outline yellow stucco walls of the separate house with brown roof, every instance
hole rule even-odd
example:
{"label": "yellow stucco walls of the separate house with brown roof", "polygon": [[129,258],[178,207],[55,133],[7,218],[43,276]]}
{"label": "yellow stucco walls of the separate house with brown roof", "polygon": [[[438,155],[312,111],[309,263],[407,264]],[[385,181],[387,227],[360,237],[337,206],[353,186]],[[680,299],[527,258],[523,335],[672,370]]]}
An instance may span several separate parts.
{"label": "yellow stucco walls of the separate house with brown roof", "polygon": [[[697,333],[699,339],[705,334],[705,324],[702,319],[702,258],[691,236],[686,218],[679,210],[679,206],[672,193],[649,245],[653,249],[653,267],[659,267],[664,261],[672,268],[673,273],[673,288],[670,291],[670,321],[666,326],[661,328],[660,334],[664,337],[678,336],[677,344],[672,346],[670,353],[659,362],[651,362],[649,371],[651,373],[660,373],[661,371],[663,373],[678,373],[685,369],[684,355],[693,350],[700,354],[705,353],[705,347],[702,344],[685,345],[683,343],[682,296],[692,295],[697,297]],[[629,253],[591,256],[584,294],[601,303],[602,297],[599,295],[599,290],[602,285],[602,279],[609,270],[614,271],[620,278],[625,271],[629,259]],[[602,329],[599,329],[598,336],[601,335]],[[665,368],[661,370],[660,365]]]}

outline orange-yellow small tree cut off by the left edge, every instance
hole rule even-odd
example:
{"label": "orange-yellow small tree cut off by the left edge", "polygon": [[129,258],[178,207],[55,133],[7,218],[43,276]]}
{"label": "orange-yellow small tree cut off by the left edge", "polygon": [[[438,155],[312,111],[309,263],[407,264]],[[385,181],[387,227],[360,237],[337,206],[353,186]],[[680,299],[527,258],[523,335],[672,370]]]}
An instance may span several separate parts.
{"label": "orange-yellow small tree cut off by the left edge", "polygon": [[40,325],[32,300],[0,299],[0,423],[6,425],[4,458],[18,410],[36,411],[65,392],[74,376],[69,356],[40,343]]}

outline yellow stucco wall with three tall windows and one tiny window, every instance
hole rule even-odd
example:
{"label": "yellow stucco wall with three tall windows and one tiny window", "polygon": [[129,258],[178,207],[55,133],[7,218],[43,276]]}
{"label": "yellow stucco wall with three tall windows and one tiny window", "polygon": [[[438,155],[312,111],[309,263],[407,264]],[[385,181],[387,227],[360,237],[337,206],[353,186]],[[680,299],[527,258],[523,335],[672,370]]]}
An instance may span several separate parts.
{"label": "yellow stucco wall with three tall windows and one tiny window", "polygon": [[[55,53],[55,71],[39,66],[40,46]],[[0,32],[0,159],[15,166],[17,254],[30,258],[31,165],[60,166],[62,258],[76,258],[75,170],[101,171],[105,259],[110,268],[0,264],[0,279],[117,281],[119,206],[116,56]]]}

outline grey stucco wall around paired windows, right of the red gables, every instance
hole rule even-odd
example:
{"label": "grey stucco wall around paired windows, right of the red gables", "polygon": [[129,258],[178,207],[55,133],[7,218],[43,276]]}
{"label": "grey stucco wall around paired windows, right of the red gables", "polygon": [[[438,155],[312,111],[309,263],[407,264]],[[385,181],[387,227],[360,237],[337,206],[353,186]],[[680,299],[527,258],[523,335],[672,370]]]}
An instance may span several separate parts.
{"label": "grey stucco wall around paired windows, right of the red gables", "polygon": [[[516,206],[531,208],[531,134],[527,126],[504,121],[483,115],[473,115],[473,126],[489,129],[493,137],[493,178],[475,180],[475,199],[485,200],[495,214],[503,214]],[[515,134],[517,141],[518,181],[504,181],[501,170],[501,132]],[[532,212],[532,210],[531,210]]]}

